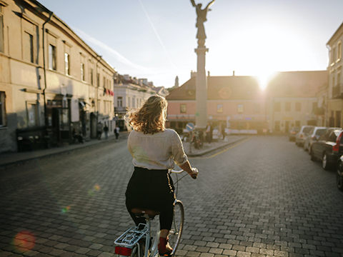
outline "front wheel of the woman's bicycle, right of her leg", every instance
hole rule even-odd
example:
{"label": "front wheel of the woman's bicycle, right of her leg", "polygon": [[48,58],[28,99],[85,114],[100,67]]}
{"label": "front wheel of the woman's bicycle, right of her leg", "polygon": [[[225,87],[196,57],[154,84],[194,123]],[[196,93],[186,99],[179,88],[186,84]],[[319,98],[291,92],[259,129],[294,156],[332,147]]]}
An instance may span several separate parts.
{"label": "front wheel of the woman's bicycle, right of her leg", "polygon": [[177,200],[174,208],[172,229],[169,231],[169,245],[173,248],[171,256],[177,252],[177,246],[181,241],[182,230],[184,228],[184,205]]}

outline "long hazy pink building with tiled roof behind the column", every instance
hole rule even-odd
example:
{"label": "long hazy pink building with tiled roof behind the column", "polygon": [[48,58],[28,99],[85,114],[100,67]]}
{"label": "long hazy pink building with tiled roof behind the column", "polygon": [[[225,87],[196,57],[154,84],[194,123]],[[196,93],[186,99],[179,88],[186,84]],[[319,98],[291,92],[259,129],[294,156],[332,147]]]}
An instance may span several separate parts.
{"label": "long hazy pink building with tiled roof behind the column", "polygon": [[[286,133],[293,126],[315,125],[324,119],[316,94],[325,85],[327,71],[279,72],[265,90],[253,76],[207,76],[207,120],[239,133]],[[187,123],[195,124],[195,91],[192,76],[166,98],[169,126],[180,133]]]}

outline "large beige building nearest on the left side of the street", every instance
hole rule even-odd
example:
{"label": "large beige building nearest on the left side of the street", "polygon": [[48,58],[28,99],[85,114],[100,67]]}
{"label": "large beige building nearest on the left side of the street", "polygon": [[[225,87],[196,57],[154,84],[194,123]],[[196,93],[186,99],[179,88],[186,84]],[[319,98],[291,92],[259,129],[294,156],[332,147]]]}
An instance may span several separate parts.
{"label": "large beige building nearest on the left side of the street", "polygon": [[116,71],[35,0],[0,0],[0,152],[70,143],[113,122]]}

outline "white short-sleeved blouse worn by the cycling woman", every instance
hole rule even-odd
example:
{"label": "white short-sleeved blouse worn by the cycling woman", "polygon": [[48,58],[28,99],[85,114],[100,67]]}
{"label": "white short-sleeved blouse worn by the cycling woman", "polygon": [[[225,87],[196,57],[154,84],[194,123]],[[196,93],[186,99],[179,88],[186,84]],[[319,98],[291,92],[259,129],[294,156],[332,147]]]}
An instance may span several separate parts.
{"label": "white short-sleeved blouse worn by the cycling woman", "polygon": [[179,134],[172,129],[144,134],[131,131],[127,148],[133,157],[134,166],[148,169],[174,168],[174,163],[182,165],[187,161]]}

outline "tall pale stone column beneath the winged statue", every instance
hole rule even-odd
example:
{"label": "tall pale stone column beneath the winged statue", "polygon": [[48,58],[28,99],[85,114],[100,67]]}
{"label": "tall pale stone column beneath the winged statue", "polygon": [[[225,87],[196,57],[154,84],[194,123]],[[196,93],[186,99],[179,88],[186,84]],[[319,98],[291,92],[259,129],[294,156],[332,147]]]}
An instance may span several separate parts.
{"label": "tall pale stone column beneath the winged statue", "polygon": [[205,71],[206,52],[205,46],[198,46],[197,53],[197,79],[196,79],[196,116],[195,123],[197,129],[206,129],[207,126],[207,76]]}

